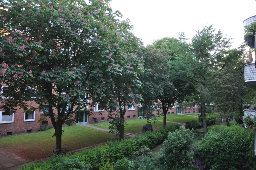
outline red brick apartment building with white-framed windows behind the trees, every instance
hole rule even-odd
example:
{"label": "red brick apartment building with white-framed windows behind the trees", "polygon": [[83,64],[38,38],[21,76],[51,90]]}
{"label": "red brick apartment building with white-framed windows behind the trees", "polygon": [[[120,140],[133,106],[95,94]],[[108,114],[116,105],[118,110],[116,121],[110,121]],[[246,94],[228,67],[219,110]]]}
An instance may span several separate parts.
{"label": "red brick apartment building with white-framed windows behind the trees", "polygon": [[[2,86],[2,92],[5,86]],[[33,90],[33,89],[31,89]],[[33,97],[33,96],[31,96]],[[38,107],[37,104],[32,102],[33,107]],[[107,111],[101,110],[99,104],[95,104],[94,107],[88,108],[87,110],[77,111],[79,119],[74,125],[79,123],[90,123],[92,117],[100,120],[100,122],[107,121]],[[99,112],[101,114],[99,114]],[[91,113],[91,114],[90,114]],[[199,113],[197,105],[190,108],[182,108],[178,105],[174,105],[169,109],[167,114],[182,114],[182,113]],[[154,113],[159,115],[157,111]],[[136,119],[144,116],[142,107],[140,105],[133,105],[132,107],[126,106],[125,119]],[[37,123],[39,118],[46,118],[46,121]],[[40,110],[31,111],[26,113],[22,109],[17,108],[17,112],[14,114],[5,114],[4,110],[0,109],[0,133],[3,136],[15,135],[20,133],[31,133],[37,131],[41,126],[52,125],[49,117],[43,116]]]}

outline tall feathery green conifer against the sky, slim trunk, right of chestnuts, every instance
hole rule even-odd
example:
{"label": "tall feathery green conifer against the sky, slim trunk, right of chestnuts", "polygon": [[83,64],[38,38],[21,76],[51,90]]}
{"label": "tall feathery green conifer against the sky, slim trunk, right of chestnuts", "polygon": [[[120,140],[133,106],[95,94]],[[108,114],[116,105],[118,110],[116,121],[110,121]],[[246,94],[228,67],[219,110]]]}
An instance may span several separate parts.
{"label": "tall feathery green conifer against the sky, slim trunk, right of chestnuts", "polygon": [[[185,43],[183,35],[180,39]],[[209,80],[232,58],[228,55],[231,38],[224,36],[220,30],[216,31],[212,25],[206,25],[202,30],[197,30],[191,43],[186,44],[187,54],[172,63],[173,70],[181,78],[194,83],[196,91],[193,91],[190,100],[201,106],[204,133],[207,133],[205,105],[212,103]]]}

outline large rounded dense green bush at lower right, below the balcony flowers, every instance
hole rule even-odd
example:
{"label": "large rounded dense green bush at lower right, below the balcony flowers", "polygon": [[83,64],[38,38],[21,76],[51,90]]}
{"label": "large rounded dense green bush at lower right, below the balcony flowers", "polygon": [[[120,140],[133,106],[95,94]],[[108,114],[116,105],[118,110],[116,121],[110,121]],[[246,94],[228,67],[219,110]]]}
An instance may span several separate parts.
{"label": "large rounded dense green bush at lower right, below the balcony flowers", "polygon": [[245,169],[249,151],[248,130],[239,126],[221,126],[198,141],[195,157],[207,169]]}

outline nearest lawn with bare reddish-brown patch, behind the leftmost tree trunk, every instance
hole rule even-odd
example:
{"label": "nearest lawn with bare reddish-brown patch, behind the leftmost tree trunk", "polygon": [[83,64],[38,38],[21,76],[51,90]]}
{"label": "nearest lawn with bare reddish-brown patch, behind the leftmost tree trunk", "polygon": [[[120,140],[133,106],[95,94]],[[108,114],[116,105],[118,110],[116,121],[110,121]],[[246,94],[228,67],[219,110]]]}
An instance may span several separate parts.
{"label": "nearest lawn with bare reddish-brown patch, behind the leftmost tree trunk", "polygon": [[[89,127],[70,126],[62,128],[62,145],[75,150],[117,138],[108,132]],[[31,160],[50,156],[55,149],[54,129],[0,138],[0,148],[9,150]]]}

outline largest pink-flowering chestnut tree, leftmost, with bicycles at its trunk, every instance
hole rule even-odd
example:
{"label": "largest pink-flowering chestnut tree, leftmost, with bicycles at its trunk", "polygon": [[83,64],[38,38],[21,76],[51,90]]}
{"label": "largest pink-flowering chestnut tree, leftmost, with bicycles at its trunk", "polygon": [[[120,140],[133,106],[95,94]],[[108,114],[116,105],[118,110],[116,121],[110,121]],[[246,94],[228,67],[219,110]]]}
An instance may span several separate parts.
{"label": "largest pink-flowering chestnut tree, leftmost, with bicycles at its trunk", "polygon": [[[62,125],[71,125],[76,110],[85,108],[86,94],[103,96],[97,88],[105,83],[102,73],[122,74],[126,56],[117,52],[118,30],[127,24],[115,19],[120,15],[107,0],[0,0],[0,78],[9,86],[1,108],[42,110],[51,118],[59,149]],[[33,97],[28,88],[35,89]]]}

